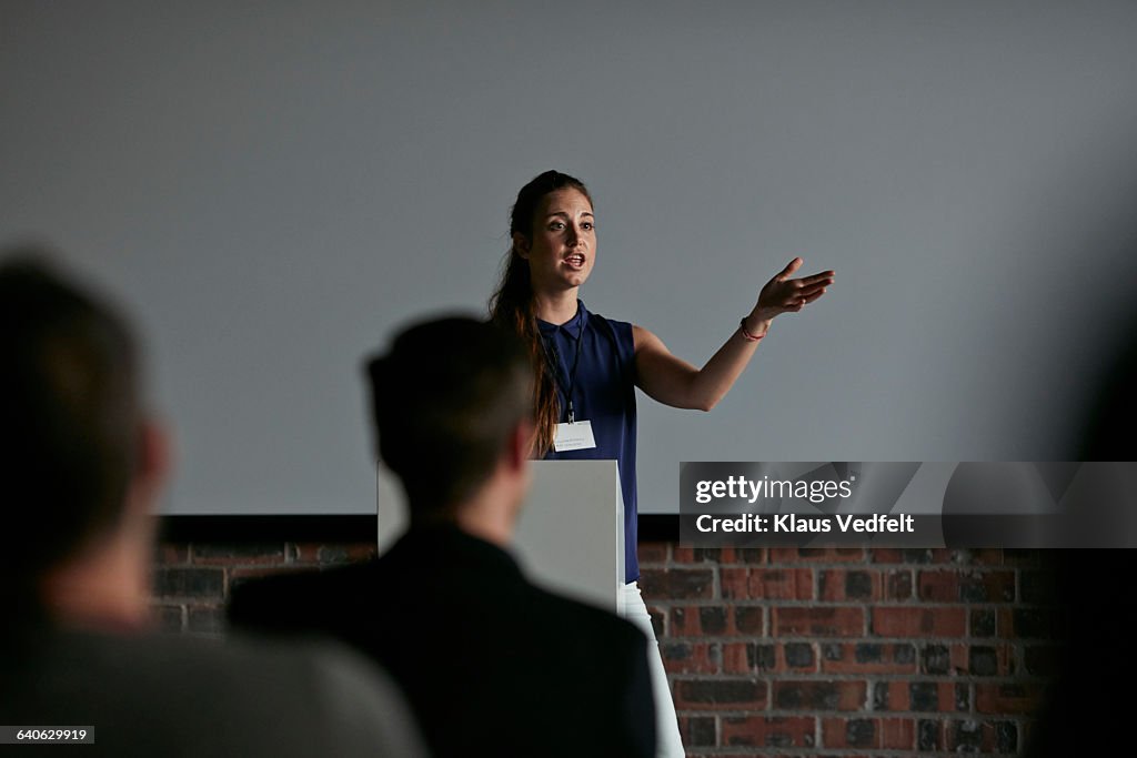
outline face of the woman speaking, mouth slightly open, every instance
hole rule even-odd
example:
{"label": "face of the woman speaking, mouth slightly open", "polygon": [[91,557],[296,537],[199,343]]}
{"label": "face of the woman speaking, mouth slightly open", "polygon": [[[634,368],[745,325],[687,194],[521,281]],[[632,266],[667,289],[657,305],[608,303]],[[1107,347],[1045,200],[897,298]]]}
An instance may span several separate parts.
{"label": "face of the woman speaking, mouth slightly open", "polygon": [[529,261],[534,291],[580,286],[596,263],[592,203],[573,188],[550,192],[537,206],[532,239],[515,234],[514,245]]}

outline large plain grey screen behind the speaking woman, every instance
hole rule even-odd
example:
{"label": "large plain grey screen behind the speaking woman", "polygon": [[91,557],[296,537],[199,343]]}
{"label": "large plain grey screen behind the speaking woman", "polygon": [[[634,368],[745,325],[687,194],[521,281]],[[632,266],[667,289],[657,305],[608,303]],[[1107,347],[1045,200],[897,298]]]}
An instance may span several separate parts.
{"label": "large plain grey screen behind the speaking woman", "polygon": [[132,306],[172,514],[372,511],[360,357],[483,306],[549,167],[589,307],[694,363],[838,272],[713,413],[641,402],[641,510],[681,460],[1073,457],[1135,134],[1131,2],[0,3],[0,240]]}

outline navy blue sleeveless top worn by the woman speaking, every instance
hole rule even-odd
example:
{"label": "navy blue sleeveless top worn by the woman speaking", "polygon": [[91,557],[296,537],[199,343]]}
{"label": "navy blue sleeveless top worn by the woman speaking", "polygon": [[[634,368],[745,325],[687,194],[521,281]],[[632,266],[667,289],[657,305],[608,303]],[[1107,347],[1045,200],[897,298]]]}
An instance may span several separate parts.
{"label": "navy blue sleeveless top worn by the woman speaking", "polygon": [[592,423],[596,438],[595,448],[565,452],[550,449],[545,458],[616,461],[624,499],[624,581],[634,582],[639,578],[639,558],[636,553],[636,348],[632,325],[590,314],[580,300],[576,301],[576,315],[567,323],[557,326],[538,319],[537,325],[546,356],[559,369],[556,385],[562,422],[568,420],[565,390],[576,361],[578,340],[583,340],[572,386],[573,411],[576,420]]}

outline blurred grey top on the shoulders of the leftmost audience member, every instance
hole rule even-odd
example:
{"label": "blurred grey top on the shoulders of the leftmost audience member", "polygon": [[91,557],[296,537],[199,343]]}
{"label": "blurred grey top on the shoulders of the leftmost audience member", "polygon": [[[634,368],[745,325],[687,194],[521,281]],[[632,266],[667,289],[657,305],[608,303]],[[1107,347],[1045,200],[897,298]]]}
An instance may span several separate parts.
{"label": "blurred grey top on the shoulders of the leftmost audience member", "polygon": [[5,722],[93,726],[93,756],[418,755],[397,688],[345,648],[55,626],[2,645]]}

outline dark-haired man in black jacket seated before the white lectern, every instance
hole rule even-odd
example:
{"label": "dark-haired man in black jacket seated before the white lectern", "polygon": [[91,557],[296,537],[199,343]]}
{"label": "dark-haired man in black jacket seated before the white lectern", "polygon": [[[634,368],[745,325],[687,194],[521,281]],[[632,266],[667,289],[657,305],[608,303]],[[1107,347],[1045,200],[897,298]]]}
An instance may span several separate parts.
{"label": "dark-haired man in black jacket seated before the white lectern", "polygon": [[409,530],[371,564],[241,585],[231,618],[366,650],[438,756],[654,755],[642,632],[536,588],[508,552],[533,433],[517,339],[474,319],[423,323],[367,377]]}

